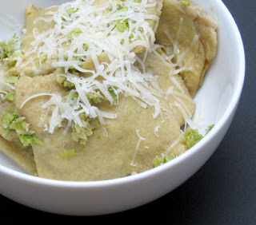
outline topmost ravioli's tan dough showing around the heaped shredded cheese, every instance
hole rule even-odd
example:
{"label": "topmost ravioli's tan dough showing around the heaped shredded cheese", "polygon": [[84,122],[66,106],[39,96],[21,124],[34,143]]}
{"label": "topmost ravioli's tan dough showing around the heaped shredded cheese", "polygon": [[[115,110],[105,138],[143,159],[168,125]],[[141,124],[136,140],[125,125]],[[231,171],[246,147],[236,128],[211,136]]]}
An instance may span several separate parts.
{"label": "topmost ravioli's tan dough showing around the heaped shredded cheese", "polygon": [[[122,11],[126,9],[126,6],[122,6],[122,1],[102,1],[96,0],[93,1],[91,4],[90,2],[86,2],[88,7],[94,7],[94,17],[96,18],[98,15],[104,15],[107,19],[114,20],[112,18],[112,14],[118,14],[116,11],[113,12],[111,7],[111,2],[118,2],[116,11]],[[158,18],[161,14],[162,9],[162,0],[161,1],[151,1],[146,3],[146,14],[150,14],[147,21],[150,22],[150,26],[152,31],[155,32],[158,27]],[[63,5],[65,6],[65,5]],[[79,6],[78,4],[74,4],[75,6]],[[67,49],[72,49],[70,38],[67,38],[62,34],[62,31],[59,33],[54,33],[54,30],[59,30],[62,24],[65,24],[66,19],[70,19],[75,16],[78,9],[72,7],[66,7],[65,9],[61,9],[62,6],[51,6],[49,8],[37,8],[35,6],[29,6],[26,9],[26,29],[24,37],[22,38],[21,44],[21,51],[24,54],[22,58],[19,60],[20,62],[17,63],[12,69],[10,69],[11,73],[14,75],[18,75],[20,73],[26,74],[26,76],[34,77],[38,75],[46,75],[49,73],[53,73],[56,69],[52,66],[52,62],[58,61],[59,52],[66,51]],[[98,10],[97,10],[98,9]],[[55,21],[53,19],[53,15],[56,14],[58,11],[62,14],[62,22]],[[90,10],[89,10],[90,11]],[[86,12],[85,12],[86,14]],[[97,22],[97,18],[95,19]],[[119,25],[119,24],[118,24]],[[107,28],[108,24],[100,25],[102,28]],[[118,27],[119,29],[126,30],[126,24],[121,24]],[[101,28],[100,28],[101,29]],[[69,34],[76,34],[80,31],[77,30],[70,30]],[[100,30],[100,32],[103,32]],[[109,31],[111,32],[111,30]],[[94,38],[94,34],[90,34]],[[55,38],[59,41],[59,43],[52,42],[51,40]],[[100,38],[100,37],[99,37]],[[150,35],[149,35],[150,38]],[[134,40],[131,40],[134,41]],[[154,41],[154,40],[153,40]],[[97,44],[97,42],[96,42]],[[145,50],[145,46],[142,45],[134,45],[133,51],[135,53],[140,53]],[[66,56],[68,57],[68,56]],[[105,57],[106,61],[108,58],[106,57],[106,53],[98,54],[99,60]],[[86,59],[85,65],[86,67],[90,65],[92,58],[89,57]]]}

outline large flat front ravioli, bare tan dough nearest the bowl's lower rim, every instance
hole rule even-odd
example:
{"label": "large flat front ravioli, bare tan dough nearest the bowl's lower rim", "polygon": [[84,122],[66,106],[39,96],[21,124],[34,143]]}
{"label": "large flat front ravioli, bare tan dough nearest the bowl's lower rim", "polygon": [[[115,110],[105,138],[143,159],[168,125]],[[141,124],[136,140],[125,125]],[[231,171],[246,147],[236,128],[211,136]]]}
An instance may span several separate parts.
{"label": "large flat front ravioli, bare tan dough nearest the bowl's lower rim", "polygon": [[[53,79],[54,75],[22,77],[15,84],[18,109],[31,95],[65,93],[65,89],[60,89]],[[26,89],[30,92],[24,91]],[[44,127],[39,124],[44,124],[41,119],[46,110],[42,105],[46,101],[47,97],[34,98],[19,110],[31,118],[32,128],[44,143],[32,144],[38,176],[55,180],[102,180],[128,176],[152,168],[154,157],[161,156],[182,136],[178,121],[172,114],[152,120],[154,109],[142,109],[132,98],[121,97],[116,106],[110,108],[108,103],[99,106],[101,110],[118,115],[116,119],[106,120],[107,136],[101,126],[96,126],[86,145],[78,144],[72,140],[70,130],[65,132],[65,127],[58,128],[53,134],[44,132]],[[49,116],[44,117],[44,120],[49,119]],[[140,144],[136,149],[138,141]],[[63,159],[60,152],[70,148],[75,149],[75,156]],[[185,151],[184,144],[179,141],[170,153],[179,155]]]}

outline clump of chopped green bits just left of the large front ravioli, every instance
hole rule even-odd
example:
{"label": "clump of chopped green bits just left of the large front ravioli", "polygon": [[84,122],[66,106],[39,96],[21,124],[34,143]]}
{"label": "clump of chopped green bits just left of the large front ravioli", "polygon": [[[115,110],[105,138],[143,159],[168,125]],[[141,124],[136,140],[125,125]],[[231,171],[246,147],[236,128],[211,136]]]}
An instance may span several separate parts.
{"label": "clump of chopped green bits just left of the large front ravioli", "polygon": [[26,122],[24,116],[18,116],[18,113],[3,113],[1,120],[2,127],[5,128],[3,136],[6,136],[10,130],[14,130],[24,147],[33,143],[42,144],[42,141],[34,136],[35,132],[30,129],[30,124]]}

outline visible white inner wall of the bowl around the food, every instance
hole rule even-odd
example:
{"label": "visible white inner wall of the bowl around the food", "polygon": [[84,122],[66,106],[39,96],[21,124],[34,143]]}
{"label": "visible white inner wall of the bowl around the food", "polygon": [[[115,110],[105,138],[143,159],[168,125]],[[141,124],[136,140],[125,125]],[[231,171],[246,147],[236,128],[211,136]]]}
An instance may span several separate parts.
{"label": "visible white inner wall of the bowl around the food", "polygon": [[[24,25],[24,10],[26,6],[51,6],[67,2],[65,0],[15,0],[4,1],[0,8],[0,39],[11,38],[14,32],[18,32]],[[238,103],[244,80],[245,58],[242,39],[234,19],[220,0],[194,0],[194,3],[202,6],[207,12],[218,20],[218,53],[206,73],[202,88],[195,97],[197,109],[194,121],[201,125],[204,131],[208,125],[215,124],[214,133],[225,125],[226,120],[234,112]],[[15,7],[13,7],[15,5]],[[202,140],[203,144],[204,140]],[[194,148],[194,151],[196,151]],[[186,153],[184,153],[186,157]],[[170,166],[172,162],[169,163]],[[24,176],[24,172],[12,160],[0,152],[0,172],[8,170],[10,174]],[[18,172],[18,173],[17,173]],[[138,175],[139,176],[139,175]],[[38,178],[33,177],[32,180]],[[132,179],[132,178],[131,178]]]}

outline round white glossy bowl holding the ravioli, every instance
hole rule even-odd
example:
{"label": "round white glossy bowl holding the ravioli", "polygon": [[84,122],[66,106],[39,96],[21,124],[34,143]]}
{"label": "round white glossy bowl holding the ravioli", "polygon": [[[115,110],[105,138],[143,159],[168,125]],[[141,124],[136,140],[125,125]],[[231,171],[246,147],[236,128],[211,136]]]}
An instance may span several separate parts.
{"label": "round white glossy bowl holding the ravioli", "polygon": [[[25,7],[50,6],[61,0],[2,1],[0,20],[23,24]],[[194,0],[218,19],[218,54],[196,96],[201,120],[215,126],[189,151],[158,168],[134,176],[95,182],[46,180],[30,176],[0,155],[0,193],[28,207],[62,215],[104,215],[139,207],[177,188],[210,158],[234,117],[245,76],[242,38],[221,0]],[[15,7],[13,7],[15,6]],[[17,26],[0,25],[1,38],[10,38]]]}

